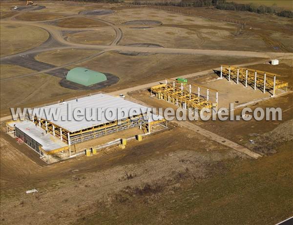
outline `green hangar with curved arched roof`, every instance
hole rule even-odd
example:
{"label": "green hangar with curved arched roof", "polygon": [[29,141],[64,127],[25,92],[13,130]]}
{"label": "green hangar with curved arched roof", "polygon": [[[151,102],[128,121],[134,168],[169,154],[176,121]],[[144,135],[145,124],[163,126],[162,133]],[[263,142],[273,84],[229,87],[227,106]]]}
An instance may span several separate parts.
{"label": "green hangar with curved arched roof", "polygon": [[74,83],[90,86],[107,80],[105,74],[89,70],[83,67],[76,67],[70,70],[66,75],[66,80]]}

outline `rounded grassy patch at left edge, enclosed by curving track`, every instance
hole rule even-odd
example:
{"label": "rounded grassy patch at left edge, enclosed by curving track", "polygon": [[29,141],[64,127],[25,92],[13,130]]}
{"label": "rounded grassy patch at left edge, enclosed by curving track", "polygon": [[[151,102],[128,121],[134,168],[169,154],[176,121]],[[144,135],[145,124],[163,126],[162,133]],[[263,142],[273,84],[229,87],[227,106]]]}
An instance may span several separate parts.
{"label": "rounded grassy patch at left edge, enclosed by curving track", "polygon": [[37,27],[27,25],[0,26],[0,55],[7,56],[23,52],[42,44],[49,34]]}

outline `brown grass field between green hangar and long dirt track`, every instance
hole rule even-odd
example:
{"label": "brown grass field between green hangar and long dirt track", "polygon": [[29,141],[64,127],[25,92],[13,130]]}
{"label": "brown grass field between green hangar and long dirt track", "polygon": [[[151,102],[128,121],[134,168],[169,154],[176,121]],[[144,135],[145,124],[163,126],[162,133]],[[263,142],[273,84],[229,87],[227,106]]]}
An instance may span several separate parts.
{"label": "brown grass field between green hangar and long dirt track", "polygon": [[[260,60],[260,59],[257,59]],[[165,78],[187,75],[203,70],[218,67],[221,63],[242,63],[253,61],[252,58],[237,57],[207,57],[185,55],[149,55],[126,56],[118,53],[107,52],[97,58],[78,64],[91,70],[103,71],[120,78],[119,83],[105,90],[116,91],[150,81],[159,81]],[[106,62],[111,62],[108,65]],[[129,68],[131,67],[131,70]],[[71,69],[69,67],[68,69]]]}

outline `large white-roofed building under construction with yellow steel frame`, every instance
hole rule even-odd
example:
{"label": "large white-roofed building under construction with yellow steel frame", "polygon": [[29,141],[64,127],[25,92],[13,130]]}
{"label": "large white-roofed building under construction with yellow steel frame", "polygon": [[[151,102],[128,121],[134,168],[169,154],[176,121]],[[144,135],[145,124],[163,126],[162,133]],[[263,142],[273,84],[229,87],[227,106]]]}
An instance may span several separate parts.
{"label": "large white-roofed building under construction with yellow steel frame", "polygon": [[[68,108],[70,108],[68,110]],[[125,109],[125,114],[119,114],[108,120],[106,113],[102,113],[100,119],[87,120],[85,116],[79,121],[70,118],[69,113],[76,109],[92,109],[92,117],[98,118],[97,109]],[[140,109],[129,114],[131,109]],[[70,146],[83,143],[88,140],[110,135],[127,129],[140,128],[145,133],[151,132],[151,126],[160,124],[167,128],[167,121],[162,116],[153,115],[145,106],[127,101],[121,97],[107,94],[95,94],[70,101],[61,101],[58,104],[38,108],[39,112],[55,110],[59,116],[54,120],[47,119],[46,113],[40,113],[40,117],[29,112],[24,121],[10,121],[6,123],[7,132],[13,133],[19,143],[26,143],[41,157],[69,151]],[[128,112],[128,113],[127,113]]]}

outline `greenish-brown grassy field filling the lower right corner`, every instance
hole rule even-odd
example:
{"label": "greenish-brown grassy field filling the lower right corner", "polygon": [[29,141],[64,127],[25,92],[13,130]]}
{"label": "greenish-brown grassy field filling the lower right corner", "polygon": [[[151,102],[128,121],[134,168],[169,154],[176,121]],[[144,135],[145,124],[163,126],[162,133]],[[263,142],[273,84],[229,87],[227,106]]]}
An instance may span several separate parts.
{"label": "greenish-brown grassy field filling the lower right corner", "polygon": [[293,210],[292,144],[259,160],[227,161],[227,171],[193,186],[186,182],[174,194],[98,207],[78,224],[275,224]]}

